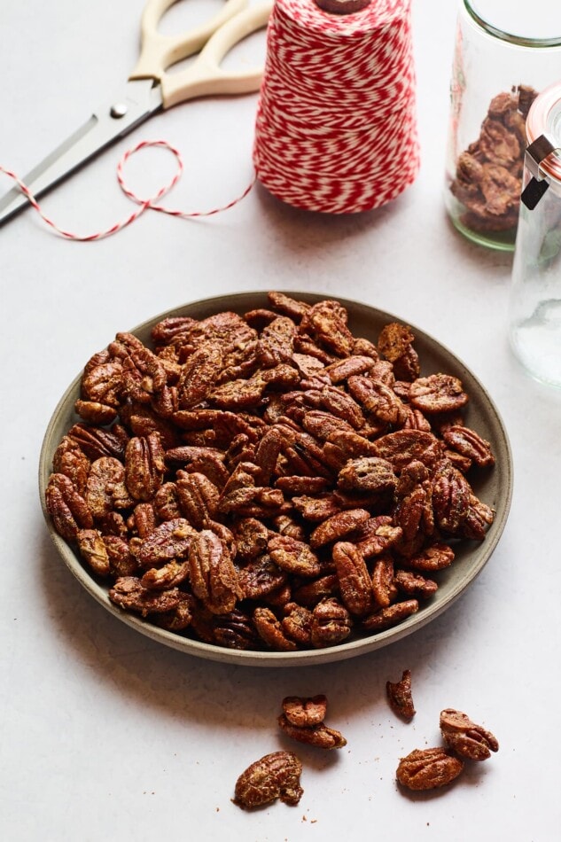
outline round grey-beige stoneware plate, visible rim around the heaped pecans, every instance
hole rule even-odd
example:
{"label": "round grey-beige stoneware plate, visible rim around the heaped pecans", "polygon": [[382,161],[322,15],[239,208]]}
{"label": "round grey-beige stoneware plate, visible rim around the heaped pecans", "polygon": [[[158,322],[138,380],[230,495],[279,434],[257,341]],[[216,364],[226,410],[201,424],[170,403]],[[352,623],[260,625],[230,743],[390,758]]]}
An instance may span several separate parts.
{"label": "round grey-beige stoneware plate, visible rim around the heaped pecans", "polygon": [[[306,300],[311,303],[324,298],[334,297],[311,294],[309,292],[288,292],[287,294],[293,298]],[[340,298],[338,300],[347,308],[349,327],[355,333],[355,336],[363,336],[377,342],[379,331],[385,324],[388,322],[402,321],[398,316],[384,313],[365,304]],[[139,325],[130,332],[136,334],[144,342],[147,342],[154,324],[157,324],[162,318],[167,316],[205,318],[221,310],[234,310],[239,314],[244,314],[248,310],[267,306],[266,292],[241,292],[220,298],[195,301],[183,307],[161,313],[159,316],[155,316],[150,321]],[[464,363],[448,351],[447,348],[442,347],[436,339],[432,339],[424,331],[417,329],[415,325],[410,326],[416,336],[415,347],[421,360],[422,376],[441,371],[460,378],[464,384],[464,390],[470,396],[470,402],[464,412],[465,423],[473,427],[484,439],[487,439],[491,443],[495,454],[495,467],[476,472],[474,476],[470,476],[470,481],[476,495],[484,503],[495,509],[495,521],[488,530],[485,541],[460,542],[456,550],[456,559],[453,565],[446,570],[440,571],[434,577],[438,578],[439,581],[439,589],[436,594],[428,602],[421,604],[418,612],[401,622],[400,625],[386,629],[383,632],[378,632],[378,634],[357,637],[356,639],[347,640],[346,643],[341,643],[338,646],[321,650],[291,653],[234,651],[208,643],[200,643],[199,641],[168,632],[165,629],[153,626],[151,623],[142,620],[142,618],[121,611],[120,608],[110,602],[107,596],[107,588],[90,576],[90,573],[82,565],[81,558],[55,532],[51,525],[51,518],[45,508],[44,492],[51,473],[52,456],[64,433],[79,420],[74,414],[74,402],[79,396],[80,376],[75,378],[74,382],[68,386],[66,393],[58,402],[58,406],[51,417],[43,440],[39,464],[39,488],[43,514],[52,541],[65,564],[90,595],[104,606],[106,611],[111,612],[117,620],[126,623],[141,634],[189,655],[251,667],[305,667],[313,664],[354,658],[357,655],[362,655],[365,652],[379,649],[382,646],[387,646],[389,643],[400,640],[402,637],[412,634],[431,620],[437,618],[474,581],[484,565],[487,564],[489,557],[499,542],[510,509],[512,461],[509,440],[503,426],[503,421],[484,386],[479,383],[479,380],[466,368]],[[126,329],[127,326],[123,325],[123,330]],[[100,339],[99,347],[95,350],[101,350],[102,347],[105,347],[112,340],[113,336]],[[87,361],[77,361],[77,364],[80,364],[80,362],[85,364]]]}

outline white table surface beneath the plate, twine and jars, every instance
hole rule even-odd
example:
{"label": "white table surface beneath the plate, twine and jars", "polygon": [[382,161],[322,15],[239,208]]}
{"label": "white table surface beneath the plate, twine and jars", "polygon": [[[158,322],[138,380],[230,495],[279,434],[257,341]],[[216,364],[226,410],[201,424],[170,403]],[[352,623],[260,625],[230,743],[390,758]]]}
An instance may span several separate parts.
{"label": "white table surface beneath the plate, twine and jars", "polygon": [[[2,166],[23,175],[119,87],[136,58],[140,8],[140,0],[2,4]],[[443,210],[455,19],[450,0],[414,2],[422,169],[390,206],[308,214],[258,186],[227,213],[200,221],[146,213],[93,244],[58,237],[31,209],[0,230],[6,842],[558,838],[561,394],[510,354],[510,257],[471,246]],[[128,214],[115,168],[142,139],[164,138],[183,153],[170,204],[229,201],[251,179],[256,101],[178,106],[53,192],[46,212],[83,233]],[[169,163],[148,151],[131,174],[153,188]],[[137,635],[61,563],[37,491],[51,412],[116,331],[190,300],[266,289],[362,300],[432,333],[487,386],[514,456],[510,518],[464,596],[417,634],[323,667],[223,666]],[[405,667],[417,706],[409,725],[385,699],[386,680]],[[281,699],[320,692],[347,748],[303,752],[298,807],[235,807],[240,772],[287,747],[276,726]],[[448,706],[494,731],[500,751],[448,791],[408,797],[395,784],[397,761],[440,745],[438,714]]]}

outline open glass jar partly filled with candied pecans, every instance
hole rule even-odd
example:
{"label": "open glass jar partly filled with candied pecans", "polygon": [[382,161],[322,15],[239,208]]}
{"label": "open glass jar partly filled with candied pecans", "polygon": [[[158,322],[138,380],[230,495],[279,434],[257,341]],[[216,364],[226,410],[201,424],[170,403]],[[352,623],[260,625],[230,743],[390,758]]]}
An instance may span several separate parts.
{"label": "open glass jar partly filled with candied pecans", "polygon": [[560,3],[461,0],[445,203],[456,229],[471,241],[514,249],[526,116],[560,70]]}

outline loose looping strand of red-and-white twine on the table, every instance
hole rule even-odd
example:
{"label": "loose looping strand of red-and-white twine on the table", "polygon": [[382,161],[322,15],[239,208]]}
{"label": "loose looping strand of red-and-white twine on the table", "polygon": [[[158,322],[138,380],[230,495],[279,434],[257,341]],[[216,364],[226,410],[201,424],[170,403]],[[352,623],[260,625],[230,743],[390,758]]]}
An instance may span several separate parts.
{"label": "loose looping strand of red-and-white twine on the table", "polygon": [[[123,175],[123,169],[129,158],[132,157],[132,155],[150,146],[161,147],[162,149],[171,152],[172,155],[174,155],[175,157],[177,169],[175,171],[175,175],[168,184],[160,188],[159,191],[157,191],[153,196],[149,197],[148,199],[141,199],[139,196],[136,196],[136,193],[134,191],[130,190],[129,187],[127,187]],[[148,210],[149,208],[153,211],[158,211],[161,214],[168,214],[169,216],[178,216],[182,219],[193,219],[199,216],[213,216],[214,214],[220,214],[222,211],[229,210],[230,207],[234,207],[234,205],[237,205],[238,202],[244,199],[245,196],[249,193],[249,191],[251,191],[253,184],[255,183],[255,177],[253,176],[252,182],[247,185],[245,191],[243,191],[243,193],[240,196],[238,196],[236,199],[232,199],[230,202],[228,202],[227,205],[222,205],[221,207],[214,207],[212,210],[187,212],[175,210],[171,207],[165,207],[159,204],[160,199],[162,199],[175,186],[175,184],[179,181],[183,174],[183,160],[181,157],[181,153],[179,152],[179,150],[175,149],[175,146],[168,144],[168,141],[166,140],[143,140],[139,144],[136,144],[136,146],[133,146],[132,149],[129,149],[127,152],[125,152],[117,166],[117,181],[119,182],[121,190],[129,199],[135,202],[139,207],[132,214],[128,214],[127,216],[125,216],[124,219],[121,220],[121,222],[115,222],[113,225],[111,225],[105,230],[96,231],[93,234],[76,234],[73,231],[60,228],[56,222],[53,222],[51,217],[47,216],[47,214],[44,213],[43,208],[39,205],[39,202],[37,201],[37,199],[35,199],[35,196],[29,190],[27,184],[25,184],[19,178],[18,175],[13,173],[12,170],[0,166],[0,173],[4,173],[4,175],[7,175],[8,177],[12,178],[12,181],[14,181],[19,186],[19,190],[22,191],[24,196],[26,196],[29,204],[32,207],[35,207],[37,213],[42,217],[43,221],[46,222],[46,224],[49,225],[49,227],[52,230],[57,231],[58,234],[60,234],[66,239],[79,240],[81,242],[92,242],[94,240],[110,237],[112,234],[116,234],[117,231],[126,228],[127,225],[130,225],[131,222],[135,222],[135,220],[138,219],[138,217],[141,214],[144,214],[144,211]]]}

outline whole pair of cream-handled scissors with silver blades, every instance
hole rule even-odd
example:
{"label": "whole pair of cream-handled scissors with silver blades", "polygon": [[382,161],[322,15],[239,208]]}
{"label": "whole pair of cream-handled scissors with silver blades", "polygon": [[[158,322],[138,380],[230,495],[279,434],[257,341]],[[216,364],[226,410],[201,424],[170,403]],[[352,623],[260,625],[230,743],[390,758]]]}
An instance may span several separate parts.
{"label": "whole pair of cream-handled scissors with silver blades", "polygon": [[[98,152],[136,129],[153,114],[195,97],[242,94],[259,90],[262,68],[223,70],[222,58],[247,35],[267,26],[272,0],[248,6],[248,0],[226,0],[222,10],[181,35],[163,35],[160,20],[177,0],[148,0],[141,19],[141,50],[124,89],[92,113],[90,120],[66,138],[22,181],[37,199],[71,175]],[[199,53],[183,70],[168,69]],[[27,207],[14,187],[0,200],[0,225]]]}

